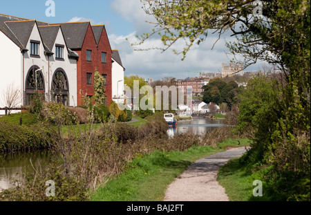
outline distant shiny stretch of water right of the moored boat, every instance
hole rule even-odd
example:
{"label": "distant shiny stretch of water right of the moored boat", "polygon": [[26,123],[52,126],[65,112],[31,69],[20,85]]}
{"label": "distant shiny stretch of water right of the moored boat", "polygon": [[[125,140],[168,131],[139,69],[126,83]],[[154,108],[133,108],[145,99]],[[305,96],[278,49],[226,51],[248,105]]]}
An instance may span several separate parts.
{"label": "distant shiny stretch of water right of the moored boat", "polygon": [[194,120],[187,120],[178,122],[178,126],[176,128],[169,128],[167,134],[169,137],[173,137],[178,133],[187,133],[191,132],[197,135],[204,135],[212,131],[213,129],[223,127],[223,120],[220,119],[204,119],[198,118]]}

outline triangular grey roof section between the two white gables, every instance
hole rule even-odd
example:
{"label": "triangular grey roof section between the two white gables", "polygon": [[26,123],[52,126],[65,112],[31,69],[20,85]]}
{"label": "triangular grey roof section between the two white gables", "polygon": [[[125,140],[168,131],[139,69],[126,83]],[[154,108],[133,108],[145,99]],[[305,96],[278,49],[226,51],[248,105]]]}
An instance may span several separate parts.
{"label": "triangular grey roof section between the two white gables", "polygon": [[52,52],[57,33],[59,32],[59,26],[39,26],[39,32],[44,42],[44,46]]}

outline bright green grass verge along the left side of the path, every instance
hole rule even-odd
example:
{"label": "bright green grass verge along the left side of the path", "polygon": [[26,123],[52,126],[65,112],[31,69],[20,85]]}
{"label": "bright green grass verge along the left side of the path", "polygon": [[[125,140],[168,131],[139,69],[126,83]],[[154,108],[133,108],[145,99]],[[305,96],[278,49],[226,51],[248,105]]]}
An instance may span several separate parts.
{"label": "bright green grass verge along the left side of the path", "polygon": [[[167,186],[180,176],[192,162],[225,150],[226,146],[238,146],[231,140],[215,147],[191,147],[187,151],[156,151],[138,156],[124,171],[91,196],[95,201],[162,201]],[[245,141],[246,142],[246,141]]]}

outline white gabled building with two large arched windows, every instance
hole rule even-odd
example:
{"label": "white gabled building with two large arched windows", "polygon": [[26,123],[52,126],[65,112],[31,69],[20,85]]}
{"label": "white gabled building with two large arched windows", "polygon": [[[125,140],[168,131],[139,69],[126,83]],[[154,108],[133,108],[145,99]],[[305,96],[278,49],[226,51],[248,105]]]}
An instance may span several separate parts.
{"label": "white gabled building with two large arched windows", "polygon": [[77,104],[79,56],[68,50],[60,26],[0,14],[0,47],[0,107],[10,84],[20,90],[20,106],[30,104],[36,90],[46,101]]}

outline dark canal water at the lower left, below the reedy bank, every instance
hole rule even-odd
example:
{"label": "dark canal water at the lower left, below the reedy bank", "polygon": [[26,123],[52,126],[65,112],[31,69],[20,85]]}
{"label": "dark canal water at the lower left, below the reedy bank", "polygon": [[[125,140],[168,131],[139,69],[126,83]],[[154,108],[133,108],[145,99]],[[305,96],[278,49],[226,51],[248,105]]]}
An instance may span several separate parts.
{"label": "dark canal water at the lower left, below the reedy bank", "polygon": [[44,167],[51,159],[48,151],[0,153],[0,191],[13,187],[16,180],[23,180],[26,172],[34,171],[38,164]]}

